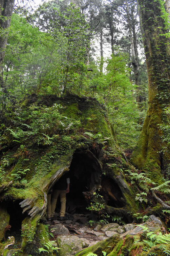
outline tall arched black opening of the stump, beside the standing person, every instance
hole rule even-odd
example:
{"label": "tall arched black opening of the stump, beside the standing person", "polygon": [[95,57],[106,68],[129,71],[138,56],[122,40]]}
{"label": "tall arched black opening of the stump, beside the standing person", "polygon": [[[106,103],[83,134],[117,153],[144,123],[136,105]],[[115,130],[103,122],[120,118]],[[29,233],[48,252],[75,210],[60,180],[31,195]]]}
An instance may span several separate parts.
{"label": "tall arched black opening of the stump, beside the standing person", "polygon": [[[92,197],[93,192],[99,188],[102,175],[101,164],[91,151],[77,151],[73,155],[69,169],[70,192],[67,194],[66,212],[89,213],[86,207],[89,206],[90,198],[88,200],[84,193],[90,193]],[[59,202],[56,207],[59,208]]]}

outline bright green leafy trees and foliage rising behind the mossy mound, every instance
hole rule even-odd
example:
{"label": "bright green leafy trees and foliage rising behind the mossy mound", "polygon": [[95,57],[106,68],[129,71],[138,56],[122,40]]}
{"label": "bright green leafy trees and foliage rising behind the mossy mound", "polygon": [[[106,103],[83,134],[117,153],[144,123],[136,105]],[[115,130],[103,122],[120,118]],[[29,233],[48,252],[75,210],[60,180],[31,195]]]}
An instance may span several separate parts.
{"label": "bright green leafy trees and foliage rising behind the mossy mound", "polygon": [[[139,135],[140,113],[135,101],[136,87],[129,82],[128,57],[115,48],[115,54],[104,60],[106,71],[101,74],[98,71],[99,66],[91,57],[93,22],[90,23],[90,29],[85,15],[74,8],[74,5],[67,5],[67,8],[66,5],[62,7],[61,3],[53,2],[43,4],[42,8],[37,10],[38,15],[45,15],[47,18],[46,32],[32,27],[26,18],[12,15],[3,64],[4,82],[9,96],[2,94],[2,110],[7,109],[7,105],[11,107],[13,101],[22,99],[26,93],[48,93],[59,97],[63,93],[93,96],[107,108],[116,129],[119,145],[123,148],[133,148]],[[46,14],[43,13],[44,10],[47,11]],[[41,20],[41,17],[37,18]],[[88,69],[93,71],[88,72]],[[34,113],[36,114],[36,111]],[[67,129],[73,127],[74,124],[70,122]],[[15,138],[17,134],[21,135],[21,130],[23,136],[28,132],[18,125],[15,129],[8,128],[11,133],[15,133],[13,142],[22,142],[20,138]],[[32,137],[31,129],[32,127]],[[99,139],[91,136],[90,138]],[[37,143],[51,145],[53,138],[49,133],[41,131]]]}

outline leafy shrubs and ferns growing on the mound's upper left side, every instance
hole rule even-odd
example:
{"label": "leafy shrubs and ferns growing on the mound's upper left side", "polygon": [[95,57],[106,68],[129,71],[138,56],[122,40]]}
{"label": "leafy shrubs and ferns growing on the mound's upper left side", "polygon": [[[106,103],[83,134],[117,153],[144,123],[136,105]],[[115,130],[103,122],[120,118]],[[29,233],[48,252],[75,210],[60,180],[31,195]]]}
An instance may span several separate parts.
{"label": "leafy shrubs and ferns growing on the mound's upper left side", "polygon": [[[52,145],[53,141],[57,140],[59,132],[63,131],[67,134],[72,128],[79,126],[80,122],[73,118],[68,118],[60,114],[62,110],[61,105],[53,104],[52,107],[31,105],[27,113],[21,110],[15,111],[13,122],[20,125],[20,127],[10,129],[13,142],[26,143],[32,141],[33,143],[42,145]],[[30,120],[29,125],[25,124],[26,120]],[[55,133],[55,134],[54,134]],[[3,137],[1,138],[3,141]],[[17,140],[16,140],[17,139]],[[68,142],[70,138],[66,136],[64,140]]]}

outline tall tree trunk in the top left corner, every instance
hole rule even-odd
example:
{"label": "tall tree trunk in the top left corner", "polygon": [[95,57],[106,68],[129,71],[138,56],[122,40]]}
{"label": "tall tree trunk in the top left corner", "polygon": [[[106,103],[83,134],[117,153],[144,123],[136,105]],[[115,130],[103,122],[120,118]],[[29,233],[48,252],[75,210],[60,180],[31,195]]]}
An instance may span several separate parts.
{"label": "tall tree trunk in the top left corner", "polygon": [[14,0],[0,0],[0,84],[2,88],[4,88],[2,65],[5,57],[8,29],[11,24],[13,7]]}

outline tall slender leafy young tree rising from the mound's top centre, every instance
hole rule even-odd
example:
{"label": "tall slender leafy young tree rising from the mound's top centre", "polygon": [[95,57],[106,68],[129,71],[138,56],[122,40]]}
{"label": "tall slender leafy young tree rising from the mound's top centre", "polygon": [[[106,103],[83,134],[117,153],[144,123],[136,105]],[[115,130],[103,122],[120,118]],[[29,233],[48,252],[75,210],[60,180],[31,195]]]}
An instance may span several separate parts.
{"label": "tall slender leafy young tree rising from the mound's top centre", "polygon": [[[58,86],[61,94],[65,92],[78,93],[79,84],[84,80],[83,72],[87,70],[87,47],[90,44],[89,26],[80,10],[73,4],[60,13],[53,22],[52,33],[59,47]],[[55,71],[56,72],[56,71]]]}

